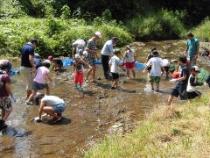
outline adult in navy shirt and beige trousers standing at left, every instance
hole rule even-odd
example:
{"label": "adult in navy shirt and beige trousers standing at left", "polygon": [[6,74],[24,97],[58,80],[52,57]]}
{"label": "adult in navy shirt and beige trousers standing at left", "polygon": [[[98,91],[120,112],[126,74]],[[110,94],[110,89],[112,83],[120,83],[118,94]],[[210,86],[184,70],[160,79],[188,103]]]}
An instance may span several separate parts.
{"label": "adult in navy shirt and beige trousers standing at left", "polygon": [[35,71],[36,67],[34,64],[34,49],[37,43],[37,40],[32,39],[21,50],[21,72],[24,76],[24,83],[26,84],[26,99],[32,93],[33,71]]}

